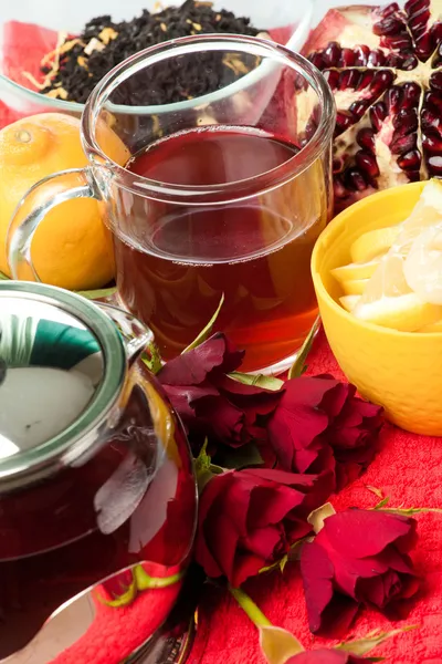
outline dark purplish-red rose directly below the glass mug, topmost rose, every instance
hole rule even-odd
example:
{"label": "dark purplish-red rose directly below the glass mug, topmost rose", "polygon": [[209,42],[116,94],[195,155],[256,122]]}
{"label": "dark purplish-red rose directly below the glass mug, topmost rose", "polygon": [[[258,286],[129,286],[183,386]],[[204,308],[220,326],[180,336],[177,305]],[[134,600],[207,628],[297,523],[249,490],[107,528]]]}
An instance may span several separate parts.
{"label": "dark purplish-red rose directly below the glass mug, topmost rose", "polygon": [[206,437],[232,447],[266,439],[264,416],[273,412],[282,393],[230,378],[227,374],[240,366],[243,355],[218,333],[158,373],[193,448]]}

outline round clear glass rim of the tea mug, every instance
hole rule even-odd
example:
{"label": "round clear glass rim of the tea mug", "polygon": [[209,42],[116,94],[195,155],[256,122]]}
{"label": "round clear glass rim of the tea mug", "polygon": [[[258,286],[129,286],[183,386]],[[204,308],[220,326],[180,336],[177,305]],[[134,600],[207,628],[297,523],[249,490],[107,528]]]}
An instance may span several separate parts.
{"label": "round clear glass rim of the tea mug", "polygon": [[[95,131],[99,121],[99,115],[105,107],[109,95],[118,85],[128,80],[131,75],[143,71],[149,64],[157,64],[172,56],[193,53],[196,50],[219,51],[224,48],[232,49],[236,45],[241,52],[252,52],[254,55],[273,58],[278,64],[284,64],[301,74],[315,91],[320,106],[320,118],[315,134],[308,143],[299,149],[293,157],[276,166],[275,168],[261,173],[254,178],[225,183],[221,185],[175,185],[171,183],[161,183],[145,178],[127,170],[124,166],[112,160],[97,143]],[[242,48],[241,48],[242,46]],[[241,84],[243,79],[254,72],[259,72],[259,65],[253,72],[245,74],[242,79],[231,83],[223,90]],[[241,90],[242,86],[239,86]],[[222,91],[217,91],[222,92]],[[209,93],[199,97],[208,100],[217,94]],[[198,100],[198,101],[199,101]],[[172,110],[173,104],[170,104]],[[164,108],[164,106],[161,106]],[[335,126],[336,106],[333,93],[323,74],[303,55],[291,51],[290,49],[271,42],[269,40],[236,35],[236,34],[198,34],[170,40],[145,49],[135,55],[131,55],[124,62],[116,65],[108,72],[91,93],[82,116],[82,142],[83,147],[94,165],[107,166],[116,176],[116,183],[123,188],[131,190],[135,194],[175,203],[186,203],[192,205],[207,205],[208,203],[223,203],[229,200],[238,201],[243,198],[250,198],[267,190],[272,190],[307,168],[326,151],[327,145],[332,144],[332,137]],[[232,125],[233,126],[233,125]],[[251,184],[253,185],[251,187]],[[253,189],[253,190],[251,190]]]}

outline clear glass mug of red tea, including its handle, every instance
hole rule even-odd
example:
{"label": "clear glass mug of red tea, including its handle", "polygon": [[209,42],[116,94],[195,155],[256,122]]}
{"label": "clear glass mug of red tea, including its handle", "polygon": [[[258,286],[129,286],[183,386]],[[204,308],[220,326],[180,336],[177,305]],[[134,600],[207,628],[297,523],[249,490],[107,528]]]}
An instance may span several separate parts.
{"label": "clear glass mug of red tea, including its handle", "polygon": [[[137,105],[158,69],[170,100]],[[188,98],[198,69],[213,90]],[[234,82],[232,69],[243,73]],[[330,212],[334,124],[322,74],[270,41],[199,35],[148,49],[86,103],[90,167],[76,184],[59,174],[28,194],[10,230],[12,272],[35,278],[24,263],[51,207],[94,197],[112,234],[118,302],[150,326],[164,359],[199,334],[223,298],[217,328],[246,351],[244,370],[283,370],[317,315],[309,261]],[[106,153],[103,125],[127,149],[123,166]]]}

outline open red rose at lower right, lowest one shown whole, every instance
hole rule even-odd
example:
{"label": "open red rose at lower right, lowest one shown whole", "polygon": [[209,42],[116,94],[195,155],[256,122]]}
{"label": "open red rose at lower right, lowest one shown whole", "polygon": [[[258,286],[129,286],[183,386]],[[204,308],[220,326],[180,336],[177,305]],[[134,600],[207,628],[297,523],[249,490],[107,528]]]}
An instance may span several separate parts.
{"label": "open red rose at lower right, lowest one shown whole", "polygon": [[361,509],[328,517],[301,553],[312,632],[344,631],[361,604],[392,614],[398,602],[418,590],[408,556],[414,542],[410,518]]}

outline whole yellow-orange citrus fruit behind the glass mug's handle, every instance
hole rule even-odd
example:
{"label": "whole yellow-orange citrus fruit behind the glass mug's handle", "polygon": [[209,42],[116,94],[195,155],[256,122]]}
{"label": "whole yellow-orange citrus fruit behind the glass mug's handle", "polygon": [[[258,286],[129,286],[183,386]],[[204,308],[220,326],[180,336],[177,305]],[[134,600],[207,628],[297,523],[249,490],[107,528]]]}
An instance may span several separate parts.
{"label": "whole yellow-orange citrus fruit behind the glass mug's handle", "polygon": [[[104,123],[97,132],[106,155],[119,165],[129,152]],[[7,259],[7,234],[21,198],[42,178],[87,166],[80,138],[80,121],[61,113],[42,113],[19,120],[0,132],[0,271],[11,277]],[[75,174],[67,185],[77,185]],[[56,187],[55,187],[56,190]],[[96,289],[114,277],[110,234],[103,224],[96,200],[76,198],[48,212],[35,231],[31,257],[44,283],[70,290]],[[31,211],[24,204],[20,219]],[[23,273],[27,278],[27,271]]]}

